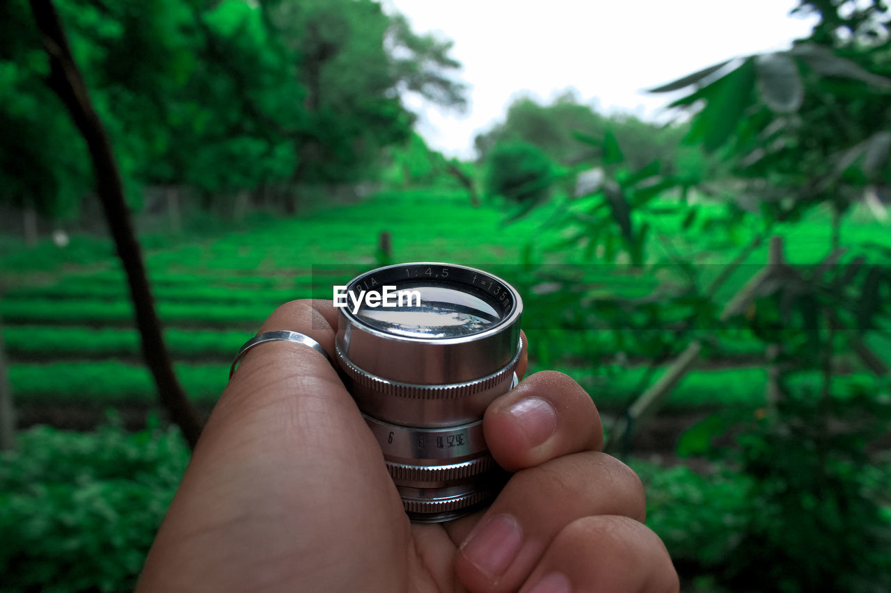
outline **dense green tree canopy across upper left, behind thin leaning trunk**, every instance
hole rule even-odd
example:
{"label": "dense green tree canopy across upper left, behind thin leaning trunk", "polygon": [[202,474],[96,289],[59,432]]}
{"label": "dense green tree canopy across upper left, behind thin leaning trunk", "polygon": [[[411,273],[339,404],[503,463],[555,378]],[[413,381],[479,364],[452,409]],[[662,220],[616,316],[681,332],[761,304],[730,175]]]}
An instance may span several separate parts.
{"label": "dense green tree canopy across upper left, behind thin leaning trunk", "polygon": [[[464,102],[450,42],[372,0],[57,4],[133,206],[150,184],[208,206],[215,194],[374,178],[381,150],[410,134],[400,92]],[[0,200],[76,215],[91,167],[45,85],[28,4],[4,3],[0,20]]]}

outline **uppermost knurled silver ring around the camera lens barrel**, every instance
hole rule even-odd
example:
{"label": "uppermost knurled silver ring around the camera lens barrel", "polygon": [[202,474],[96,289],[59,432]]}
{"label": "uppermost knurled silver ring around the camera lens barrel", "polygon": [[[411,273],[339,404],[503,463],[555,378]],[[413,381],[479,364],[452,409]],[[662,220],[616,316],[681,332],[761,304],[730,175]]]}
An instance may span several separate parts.
{"label": "uppermost knurled silver ring around the camera lens barrel", "polygon": [[467,397],[468,395],[478,394],[480,392],[486,391],[486,389],[490,389],[498,385],[499,383],[502,383],[506,378],[511,376],[513,371],[517,368],[519,357],[522,353],[523,341],[519,340],[517,353],[514,355],[513,359],[508,362],[508,364],[501,370],[497,370],[495,373],[489,375],[488,377],[478,378],[474,381],[467,381],[466,383],[452,383],[447,385],[413,385],[410,383],[400,383],[398,381],[390,381],[385,378],[380,378],[358,368],[355,364],[349,361],[349,359],[347,359],[343,352],[341,352],[340,346],[337,346],[337,355],[340,361],[340,367],[347,374],[347,377],[356,382],[358,385],[364,386],[368,389],[372,389],[373,391],[381,395],[396,395],[397,397],[423,400],[458,399]]}

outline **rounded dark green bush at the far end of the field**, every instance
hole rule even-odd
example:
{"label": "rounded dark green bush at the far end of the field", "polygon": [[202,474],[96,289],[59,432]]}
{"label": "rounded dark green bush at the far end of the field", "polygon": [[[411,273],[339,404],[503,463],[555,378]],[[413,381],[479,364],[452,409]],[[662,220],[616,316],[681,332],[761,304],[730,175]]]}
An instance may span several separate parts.
{"label": "rounded dark green bush at the far end of the field", "polygon": [[486,193],[517,202],[541,202],[551,193],[554,164],[535,144],[495,144],[487,159]]}

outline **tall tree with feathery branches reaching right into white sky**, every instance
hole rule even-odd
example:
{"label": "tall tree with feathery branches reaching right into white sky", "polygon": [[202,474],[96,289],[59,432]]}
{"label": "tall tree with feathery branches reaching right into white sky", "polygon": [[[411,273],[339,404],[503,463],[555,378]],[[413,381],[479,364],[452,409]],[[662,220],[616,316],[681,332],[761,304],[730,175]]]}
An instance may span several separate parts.
{"label": "tall tree with feathery branches reaching right into white sky", "polygon": [[400,93],[461,106],[465,87],[448,76],[451,44],[418,36],[371,0],[266,2],[270,27],[306,88],[305,118],[290,134],[295,183],[343,183],[372,175],[381,149],[411,137]]}

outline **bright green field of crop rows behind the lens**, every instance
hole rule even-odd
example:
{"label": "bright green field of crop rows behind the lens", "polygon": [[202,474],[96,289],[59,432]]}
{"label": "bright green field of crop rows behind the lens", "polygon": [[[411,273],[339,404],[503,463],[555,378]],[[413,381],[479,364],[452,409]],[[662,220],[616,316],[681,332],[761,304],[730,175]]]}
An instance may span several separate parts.
{"label": "bright green field of crop rows behind the lens", "polygon": [[[501,210],[471,207],[461,191],[392,191],[351,207],[323,208],[307,217],[255,223],[200,240],[148,236],[145,257],[177,372],[187,393],[209,409],[225,386],[233,353],[266,315],[294,298],[328,298],[332,284],[376,265],[380,232],[391,234],[395,261],[476,265],[519,284],[521,269],[511,264],[521,261],[527,245],[540,261],[578,262],[572,253],[544,250],[559,239],[543,226],[553,210],[543,207],[504,225]],[[670,232],[671,221],[664,224],[662,232]],[[789,259],[818,261],[828,238],[826,221],[795,228],[786,237]],[[891,246],[886,229],[865,220],[844,232],[854,242]],[[700,239],[703,244],[678,248],[706,252],[703,276],[708,278],[735,251],[709,248],[707,235]],[[105,406],[151,410],[153,386],[140,361],[123,274],[109,246],[78,237],[70,250],[45,243],[28,253],[11,249],[8,241],[4,245],[0,314],[13,393],[18,406],[32,410],[25,416],[40,418],[37,410],[60,405],[97,412]],[[756,271],[765,249],[750,254],[750,264],[740,266],[728,290],[739,288]],[[54,264],[47,254],[55,257]],[[647,294],[655,283],[623,266],[592,264],[587,272],[605,288],[629,294]],[[623,366],[612,360],[614,345],[606,332],[555,334],[536,314],[534,300],[527,305],[526,319],[531,369],[567,371],[602,410],[623,408],[648,385],[642,381],[644,369],[634,361]],[[728,334],[711,343],[700,369],[674,389],[668,410],[710,410],[724,404],[754,409],[763,402],[762,353],[756,340]],[[880,340],[873,346],[891,352]],[[658,373],[649,381],[655,378]]]}

